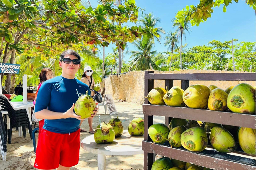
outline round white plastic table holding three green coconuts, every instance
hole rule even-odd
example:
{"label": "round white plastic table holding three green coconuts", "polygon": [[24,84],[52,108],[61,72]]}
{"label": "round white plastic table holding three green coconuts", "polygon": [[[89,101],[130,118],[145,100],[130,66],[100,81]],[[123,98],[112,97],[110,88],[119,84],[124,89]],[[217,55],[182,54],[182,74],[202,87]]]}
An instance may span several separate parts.
{"label": "round white plastic table holding three green coconuts", "polygon": [[98,170],[106,169],[106,155],[136,155],[143,154],[142,140],[144,136],[130,136],[128,130],[124,130],[122,136],[115,138],[111,144],[97,144],[94,135],[84,138],[81,146],[84,150],[98,154]]}

